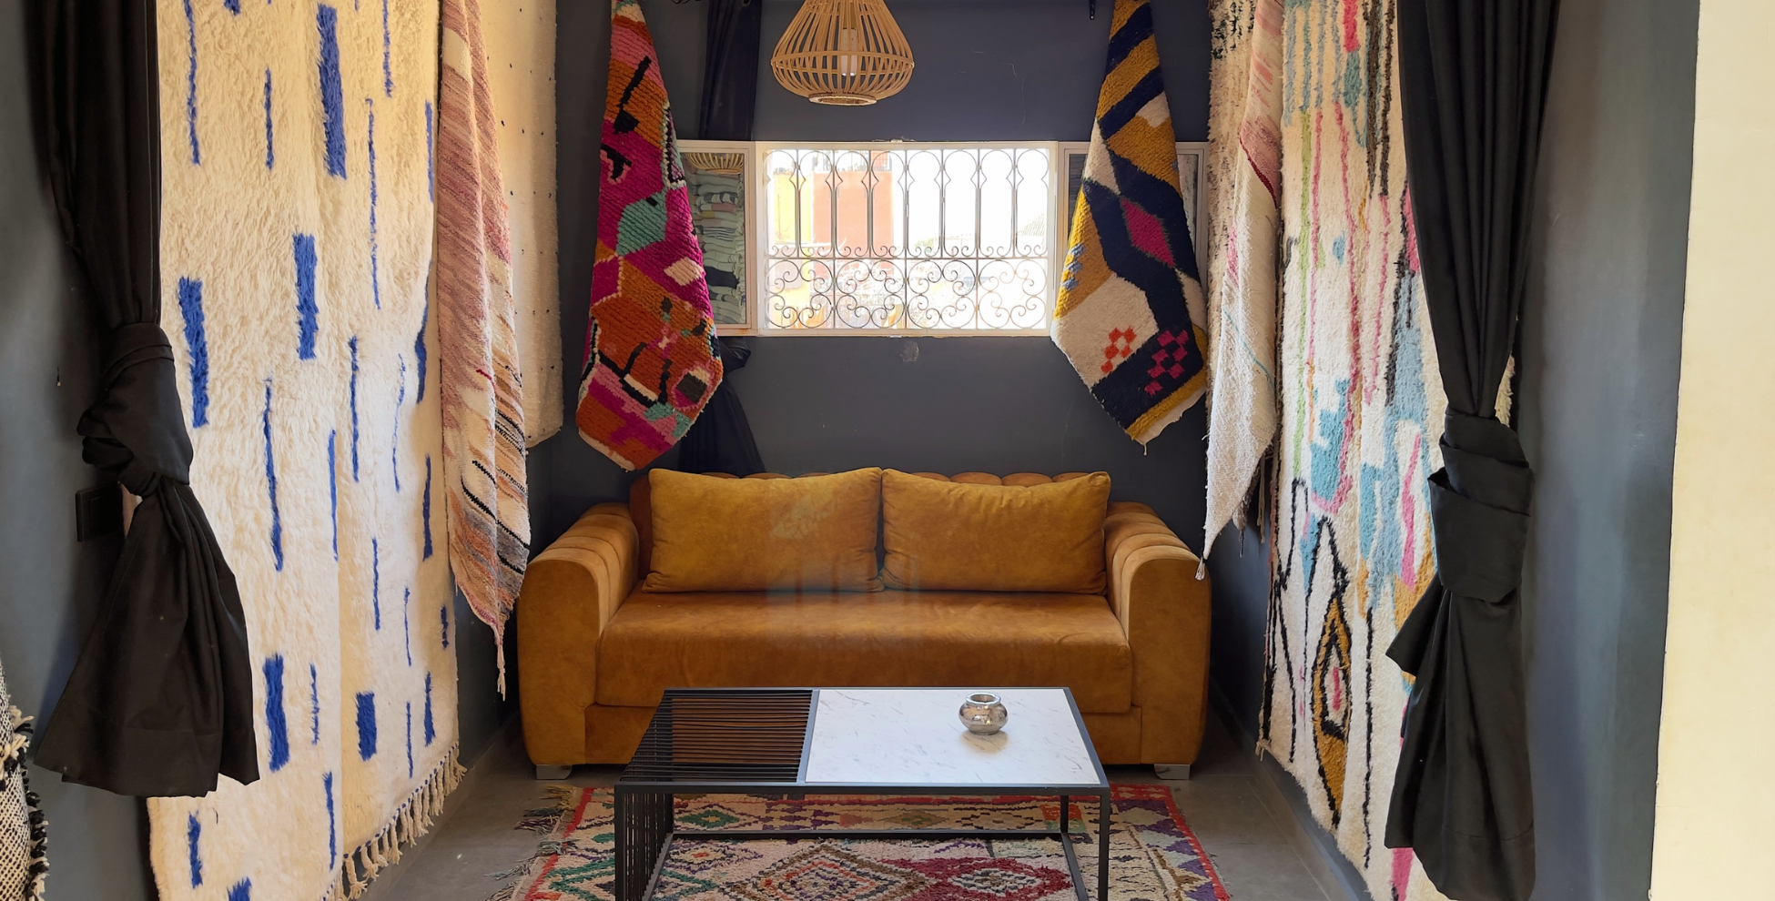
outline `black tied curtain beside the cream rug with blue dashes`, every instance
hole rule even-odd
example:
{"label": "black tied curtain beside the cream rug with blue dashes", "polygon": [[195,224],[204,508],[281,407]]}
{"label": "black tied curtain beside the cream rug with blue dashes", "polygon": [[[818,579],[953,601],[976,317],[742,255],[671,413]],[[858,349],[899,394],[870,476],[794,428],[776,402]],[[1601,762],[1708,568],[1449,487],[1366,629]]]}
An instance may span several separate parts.
{"label": "black tied curtain beside the cream rug with blue dashes", "polygon": [[82,293],[108,330],[83,458],[142,497],[36,763],[119,795],[204,795],[259,777],[234,573],[190,488],[192,442],[160,328],[153,0],[48,0],[44,149]]}

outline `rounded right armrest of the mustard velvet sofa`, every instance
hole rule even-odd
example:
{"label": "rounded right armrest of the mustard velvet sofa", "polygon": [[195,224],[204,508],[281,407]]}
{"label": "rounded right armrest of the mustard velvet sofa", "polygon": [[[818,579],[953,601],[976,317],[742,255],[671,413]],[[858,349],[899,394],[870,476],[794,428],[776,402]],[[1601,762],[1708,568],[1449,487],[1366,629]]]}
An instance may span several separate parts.
{"label": "rounded right armrest of the mustard velvet sofa", "polygon": [[1145,504],[1104,521],[1109,607],[1134,651],[1141,763],[1195,763],[1207,725],[1209,582],[1200,560]]}

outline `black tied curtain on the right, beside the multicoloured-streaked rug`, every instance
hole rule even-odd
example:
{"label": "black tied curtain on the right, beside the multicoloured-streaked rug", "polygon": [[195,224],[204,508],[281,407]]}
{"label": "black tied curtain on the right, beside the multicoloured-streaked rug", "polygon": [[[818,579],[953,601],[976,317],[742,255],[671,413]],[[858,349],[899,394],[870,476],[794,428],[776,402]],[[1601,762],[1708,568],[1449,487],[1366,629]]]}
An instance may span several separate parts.
{"label": "black tied curtain on the right, beside the multicoloured-streaked rug", "polygon": [[1496,419],[1528,278],[1557,0],[1400,0],[1399,87],[1448,420],[1431,475],[1436,578],[1388,649],[1415,676],[1386,844],[1457,901],[1535,885],[1523,693],[1534,474]]}

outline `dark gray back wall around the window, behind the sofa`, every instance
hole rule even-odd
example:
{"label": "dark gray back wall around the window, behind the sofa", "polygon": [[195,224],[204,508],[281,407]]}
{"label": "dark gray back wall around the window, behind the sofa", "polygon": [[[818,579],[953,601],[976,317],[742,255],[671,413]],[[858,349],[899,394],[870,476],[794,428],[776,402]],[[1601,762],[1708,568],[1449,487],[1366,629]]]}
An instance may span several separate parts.
{"label": "dark gray back wall around the window, behind the sofa", "polygon": [[[1109,0],[1097,20],[1083,0],[896,0],[895,18],[918,69],[875,106],[801,99],[769,74],[767,59],[799,7],[765,5],[756,137],[804,140],[1086,140],[1102,82]],[[644,0],[666,87],[685,137],[696,137],[705,4]],[[1209,21],[1203,0],[1154,4],[1179,140],[1207,137]],[[609,14],[563,4],[557,32],[563,371],[577,378],[586,348],[591,247],[596,234],[596,147],[604,112]],[[916,346],[916,360],[907,362]],[[753,339],[751,364],[731,376],[765,465],[781,472],[898,466],[935,472],[1106,470],[1115,495],[1154,505],[1200,546],[1203,417],[1200,406],[1143,452],[1097,408],[1065,356],[1044,337]],[[572,426],[531,454],[536,550],[584,509],[627,498],[630,475]],[[671,465],[674,454],[662,458]]]}

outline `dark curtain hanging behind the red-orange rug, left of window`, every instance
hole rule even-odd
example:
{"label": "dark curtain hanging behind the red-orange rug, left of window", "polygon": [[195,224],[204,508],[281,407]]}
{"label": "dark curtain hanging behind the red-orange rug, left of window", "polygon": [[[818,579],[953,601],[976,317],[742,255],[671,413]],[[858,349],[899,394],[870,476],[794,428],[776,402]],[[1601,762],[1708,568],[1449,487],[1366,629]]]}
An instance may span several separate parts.
{"label": "dark curtain hanging behind the red-orange rug, left of window", "polygon": [[[710,0],[708,43],[703,66],[703,110],[698,137],[703,140],[753,140],[753,110],[758,98],[758,28],[763,0]],[[756,303],[756,302],[754,302]],[[740,337],[721,339],[721,365],[731,376],[753,355]],[[678,442],[683,472],[765,472],[753,440],[753,426],[730,378]]]}

